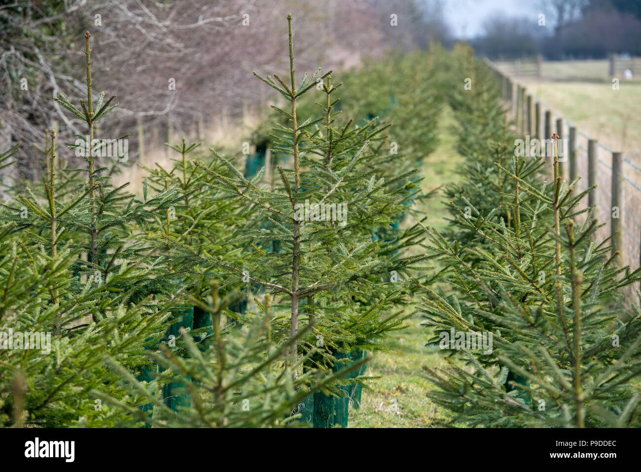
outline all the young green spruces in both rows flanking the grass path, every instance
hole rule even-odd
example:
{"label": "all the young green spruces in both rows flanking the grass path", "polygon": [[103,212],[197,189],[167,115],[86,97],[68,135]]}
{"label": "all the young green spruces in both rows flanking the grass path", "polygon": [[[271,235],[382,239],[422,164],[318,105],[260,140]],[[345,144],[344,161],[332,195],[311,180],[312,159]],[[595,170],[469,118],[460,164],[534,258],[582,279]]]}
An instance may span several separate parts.
{"label": "all the young green spruces in both rows flanking the grass path", "polygon": [[[514,157],[485,64],[465,46],[366,62],[338,101],[331,73],[296,74],[288,25],[289,77],[258,76],[284,104],[272,179],[183,141],[138,195],[93,144],[117,104],[94,100],[87,34],[87,98],[56,98],[87,134],[52,132],[42,182],[1,212],[1,424],[345,425],[363,353],[420,296],[451,363],[426,369],[429,397],[453,424],[638,426],[640,317],[619,291],[641,273],[596,240],[557,157]],[[442,100],[467,164],[438,232],[401,222]]]}

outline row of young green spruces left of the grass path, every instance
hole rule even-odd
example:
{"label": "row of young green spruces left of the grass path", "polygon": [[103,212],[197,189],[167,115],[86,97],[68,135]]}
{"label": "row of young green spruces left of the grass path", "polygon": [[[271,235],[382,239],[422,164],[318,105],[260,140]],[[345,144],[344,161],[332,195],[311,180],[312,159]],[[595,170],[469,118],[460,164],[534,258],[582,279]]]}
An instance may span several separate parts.
{"label": "row of young green spruces left of the grass path", "polygon": [[[56,98],[86,135],[61,144],[51,132],[42,182],[12,184],[1,213],[1,424],[315,422],[310,399],[345,398],[362,381],[350,353],[402,328],[427,256],[419,225],[392,228],[420,193],[413,167],[435,135],[416,139],[411,118],[397,137],[375,117],[343,118],[331,73],[296,74],[288,24],[288,78],[258,76],[284,103],[273,107],[273,183],[183,141],[136,193],[113,186],[121,163],[101,157],[97,125],[117,103],[93,96],[87,33],[87,98]],[[395,62],[427,78],[415,60]],[[416,90],[433,107],[420,116],[435,119],[430,83]],[[412,102],[409,89],[397,96]],[[67,165],[72,152],[83,166]]]}

